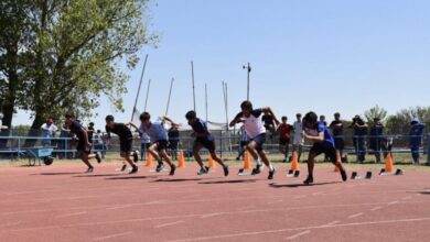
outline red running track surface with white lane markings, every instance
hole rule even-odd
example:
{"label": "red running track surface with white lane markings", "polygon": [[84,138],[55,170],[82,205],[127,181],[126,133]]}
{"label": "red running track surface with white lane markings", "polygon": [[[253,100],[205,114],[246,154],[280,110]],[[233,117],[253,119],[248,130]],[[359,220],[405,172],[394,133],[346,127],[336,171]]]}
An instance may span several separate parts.
{"label": "red running track surface with white lane markings", "polygon": [[[267,180],[232,168],[174,177],[101,164],[0,169],[0,241],[429,241],[430,176],[341,183],[318,169],[314,186],[278,169]],[[141,167],[142,168],[142,167]],[[303,172],[302,172],[303,173]]]}

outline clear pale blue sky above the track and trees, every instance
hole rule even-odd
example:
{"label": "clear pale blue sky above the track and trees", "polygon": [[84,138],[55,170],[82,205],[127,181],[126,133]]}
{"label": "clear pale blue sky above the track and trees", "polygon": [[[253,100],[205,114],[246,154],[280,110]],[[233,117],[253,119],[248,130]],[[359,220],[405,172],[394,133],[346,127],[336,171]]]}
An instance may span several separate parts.
{"label": "clear pale blue sky above the track and trees", "polygon": [[[126,112],[107,101],[94,110],[96,127],[114,114],[126,122],[149,55],[138,110],[164,114],[174,78],[169,116],[182,123],[193,109],[191,62],[197,116],[225,122],[222,81],[227,84],[228,119],[246,100],[248,62],[250,101],[289,117],[315,111],[332,120],[363,114],[378,105],[389,114],[430,103],[430,1],[427,0],[157,0],[150,29],[158,47],[144,46],[123,96]],[[144,18],[146,20],[148,18]],[[29,124],[20,111],[14,124]]]}

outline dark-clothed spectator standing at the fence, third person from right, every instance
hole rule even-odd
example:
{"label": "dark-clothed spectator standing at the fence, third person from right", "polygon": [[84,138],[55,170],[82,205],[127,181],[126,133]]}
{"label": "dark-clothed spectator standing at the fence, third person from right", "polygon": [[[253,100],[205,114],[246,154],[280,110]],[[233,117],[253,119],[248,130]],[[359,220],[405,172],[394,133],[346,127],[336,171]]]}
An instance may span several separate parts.
{"label": "dark-clothed spectator standing at the fence, third person from right", "polygon": [[353,143],[355,153],[357,154],[357,162],[363,164],[366,160],[367,124],[362,117],[355,116],[350,128],[354,129]]}

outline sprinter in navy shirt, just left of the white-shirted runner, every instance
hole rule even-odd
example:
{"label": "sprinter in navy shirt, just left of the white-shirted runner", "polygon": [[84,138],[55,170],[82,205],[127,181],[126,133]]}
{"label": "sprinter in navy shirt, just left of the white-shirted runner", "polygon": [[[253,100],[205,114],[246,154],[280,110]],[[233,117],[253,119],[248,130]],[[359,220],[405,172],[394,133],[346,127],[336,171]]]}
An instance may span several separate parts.
{"label": "sprinter in navy shirt, just left of the white-shirted runner", "polygon": [[198,119],[196,117],[195,111],[189,111],[185,114],[186,120],[189,121],[189,124],[193,128],[192,136],[195,138],[194,145],[193,145],[193,155],[195,161],[197,161],[201,169],[198,170],[197,175],[207,174],[209,168],[207,166],[203,165],[202,157],[200,156],[200,150],[202,147],[205,147],[209,151],[211,157],[216,161],[219,165],[223,166],[224,169],[224,176],[228,176],[228,165],[221,160],[216,153],[215,153],[215,142],[214,136],[211,134],[211,132],[207,130],[206,122],[202,119]]}

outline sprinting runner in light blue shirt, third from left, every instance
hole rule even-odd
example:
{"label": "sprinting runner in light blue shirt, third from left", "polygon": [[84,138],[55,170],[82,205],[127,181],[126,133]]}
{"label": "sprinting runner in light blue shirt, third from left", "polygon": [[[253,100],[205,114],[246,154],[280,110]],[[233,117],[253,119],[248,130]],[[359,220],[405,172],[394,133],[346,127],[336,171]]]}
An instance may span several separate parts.
{"label": "sprinting runner in light blue shirt, third from left", "polygon": [[159,163],[157,166],[155,172],[160,173],[164,168],[164,164],[162,162],[162,158],[170,165],[170,175],[173,176],[174,172],[176,169],[176,166],[172,163],[171,157],[166,153],[166,148],[169,145],[168,142],[168,132],[164,130],[163,121],[166,120],[172,123],[172,125],[179,125],[178,123],[173,122],[168,117],[160,117],[161,120],[159,122],[151,122],[151,114],[149,112],[143,112],[140,114],[140,127],[138,128],[135,123],[129,122],[126,123],[126,125],[130,124],[131,127],[135,127],[140,135],[143,135],[144,133],[148,134],[148,136],[151,140],[151,144],[149,145],[149,152],[151,155],[157,160]]}

